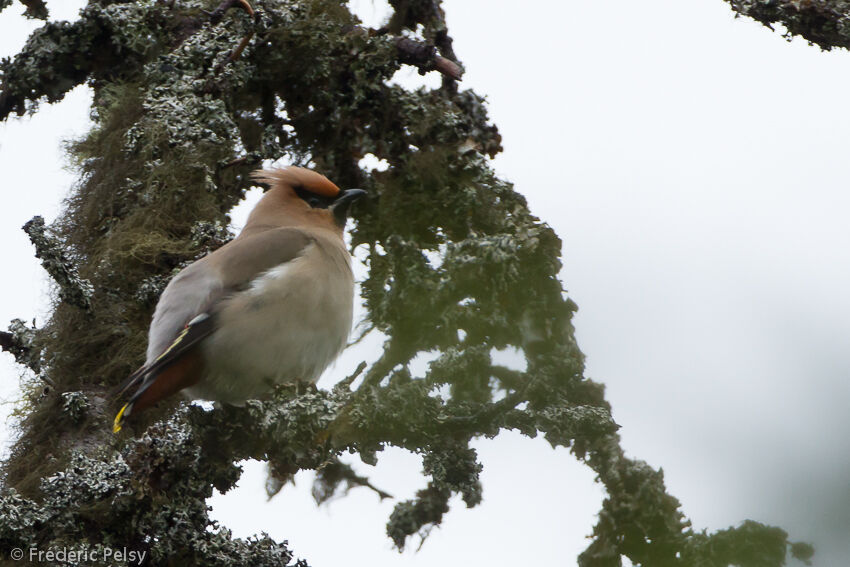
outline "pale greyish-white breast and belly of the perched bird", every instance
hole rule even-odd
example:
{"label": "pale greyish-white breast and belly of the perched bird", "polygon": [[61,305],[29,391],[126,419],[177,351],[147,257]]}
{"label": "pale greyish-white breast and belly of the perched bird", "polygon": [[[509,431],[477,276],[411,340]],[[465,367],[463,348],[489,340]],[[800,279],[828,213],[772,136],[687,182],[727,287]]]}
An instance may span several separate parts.
{"label": "pale greyish-white breast and belly of the perched bird", "polygon": [[223,301],[218,329],[203,343],[206,375],[187,394],[238,404],[275,384],[318,380],[351,330],[349,261],[311,244]]}

